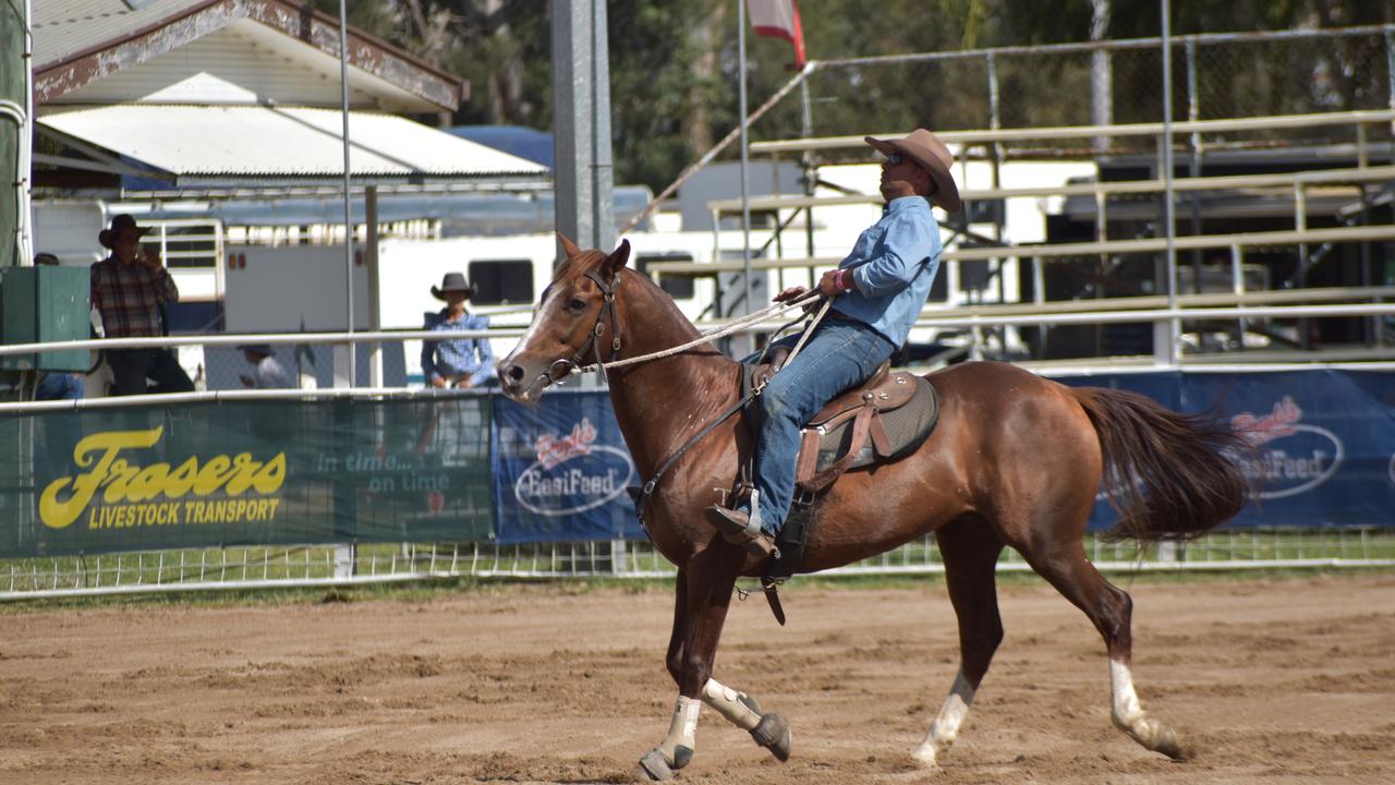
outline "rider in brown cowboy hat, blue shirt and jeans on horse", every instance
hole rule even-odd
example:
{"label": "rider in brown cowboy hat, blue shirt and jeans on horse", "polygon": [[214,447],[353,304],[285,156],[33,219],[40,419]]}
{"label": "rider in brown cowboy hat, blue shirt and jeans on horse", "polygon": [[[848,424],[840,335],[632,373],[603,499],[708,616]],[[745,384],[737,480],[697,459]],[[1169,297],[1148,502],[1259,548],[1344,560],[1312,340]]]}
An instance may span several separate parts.
{"label": "rider in brown cowboy hat, blue shirt and jeans on horse", "polygon": [[[819,292],[831,299],[808,344],[756,398],[762,426],[756,439],[755,490],[727,508],[707,508],[707,520],[728,542],[757,556],[774,550],[794,499],[799,429],[843,390],[866,381],[910,337],[940,267],[940,228],[930,212],[960,210],[951,168],[954,156],[930,131],[866,142],[883,155],[882,218],[852,246],[837,270],[823,274]],[[791,286],[776,302],[804,296]],[[798,337],[791,337],[792,341]]]}

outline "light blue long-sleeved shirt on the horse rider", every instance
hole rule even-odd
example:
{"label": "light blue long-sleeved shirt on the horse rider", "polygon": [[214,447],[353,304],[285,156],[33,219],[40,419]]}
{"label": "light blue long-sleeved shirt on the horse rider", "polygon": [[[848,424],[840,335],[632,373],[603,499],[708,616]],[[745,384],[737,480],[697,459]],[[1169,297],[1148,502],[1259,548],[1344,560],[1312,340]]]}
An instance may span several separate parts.
{"label": "light blue long-sleeved shirt on the horse rider", "polygon": [[891,200],[838,268],[852,270],[852,292],[833,310],[864,321],[893,345],[905,344],[940,268],[940,225],[925,197]]}

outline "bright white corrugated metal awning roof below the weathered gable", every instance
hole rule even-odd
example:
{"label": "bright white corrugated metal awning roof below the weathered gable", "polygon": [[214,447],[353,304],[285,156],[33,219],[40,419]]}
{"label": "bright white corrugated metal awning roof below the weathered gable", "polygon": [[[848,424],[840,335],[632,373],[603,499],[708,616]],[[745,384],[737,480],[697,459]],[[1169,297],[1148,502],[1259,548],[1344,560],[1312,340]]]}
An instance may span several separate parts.
{"label": "bright white corrugated metal awning roof below the weathered gable", "polygon": [[[40,126],[179,177],[325,179],[343,173],[342,120],[329,109],[120,105],[54,110]],[[354,177],[547,176],[548,169],[444,131],[350,112]]]}

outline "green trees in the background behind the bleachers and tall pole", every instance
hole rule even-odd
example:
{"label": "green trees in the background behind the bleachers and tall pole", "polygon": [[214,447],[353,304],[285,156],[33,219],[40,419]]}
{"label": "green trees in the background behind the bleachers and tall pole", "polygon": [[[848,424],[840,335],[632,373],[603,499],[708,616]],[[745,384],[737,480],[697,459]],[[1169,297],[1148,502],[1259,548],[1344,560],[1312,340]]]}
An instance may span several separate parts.
{"label": "green trees in the background behind the bleachers and tall pole", "polygon": [[[802,0],[810,59],[956,52],[989,46],[1089,39],[1096,0]],[[611,129],[615,180],[656,191],[737,124],[737,0],[614,0],[607,4]],[[317,0],[336,14],[338,0]],[[350,0],[350,22],[470,81],[470,101],[453,123],[508,123],[550,129],[551,0]],[[1158,0],[1110,0],[1106,38],[1161,32]],[[1395,0],[1172,0],[1175,35],[1395,21]],[[791,47],[748,35],[749,105],[759,106],[792,75]],[[1378,53],[1375,53],[1378,54]],[[1370,52],[1334,50],[1320,89],[1303,94],[1311,73],[1290,63],[1253,59],[1221,64],[1233,73],[1212,81],[1202,116],[1250,105],[1256,113],[1318,101],[1360,106],[1381,89],[1382,64]],[[1180,60],[1176,57],[1175,60]],[[1115,59],[1116,122],[1156,119],[1161,63],[1156,53]],[[1176,66],[1182,68],[1183,66]],[[1088,66],[1080,59],[999,61],[1004,126],[1088,122]],[[1321,81],[1321,80],[1320,80]],[[1184,85],[1182,73],[1175,84]],[[981,129],[989,123],[982,60],[918,66],[862,66],[817,73],[809,85],[815,135]],[[1295,85],[1299,85],[1296,88]],[[1184,87],[1179,87],[1179,91]],[[1045,98],[1043,98],[1045,96]],[[1124,98],[1120,101],[1119,98]],[[1175,106],[1186,112],[1184,98]],[[1141,109],[1134,109],[1141,108]],[[1140,113],[1140,117],[1130,116]],[[804,133],[797,96],[756,127],[753,140]]]}

